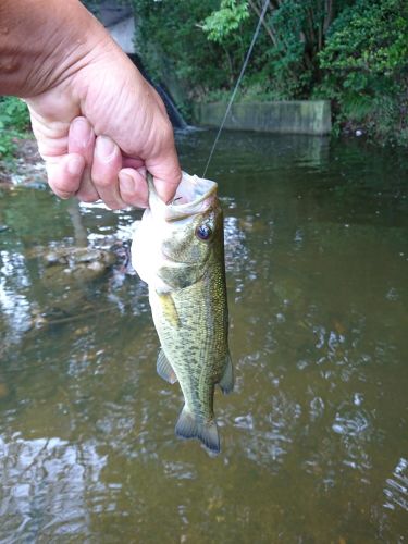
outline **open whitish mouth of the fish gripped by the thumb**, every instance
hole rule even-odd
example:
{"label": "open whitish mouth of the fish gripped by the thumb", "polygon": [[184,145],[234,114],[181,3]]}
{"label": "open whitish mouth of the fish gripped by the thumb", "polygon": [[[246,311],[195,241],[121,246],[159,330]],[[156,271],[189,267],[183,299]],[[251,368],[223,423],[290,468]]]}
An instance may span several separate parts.
{"label": "open whitish mouth of the fish gripped by the thumb", "polygon": [[215,182],[183,172],[182,181],[172,202],[164,205],[157,195],[149,176],[148,181],[150,209],[153,213],[157,208],[160,208],[161,213],[164,211],[165,221],[180,221],[207,211],[214,200],[218,189]]}

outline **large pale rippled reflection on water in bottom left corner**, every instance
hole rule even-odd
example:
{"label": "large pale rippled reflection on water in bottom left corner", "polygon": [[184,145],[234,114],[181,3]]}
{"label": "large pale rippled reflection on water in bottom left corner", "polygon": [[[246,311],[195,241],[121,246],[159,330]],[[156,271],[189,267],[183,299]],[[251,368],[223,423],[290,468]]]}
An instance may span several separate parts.
{"label": "large pale rippled reflection on water in bottom left corner", "polygon": [[[106,457],[91,444],[58,437],[0,437],[0,542],[84,534],[86,494],[100,492]],[[14,540],[13,540],[14,539]]]}

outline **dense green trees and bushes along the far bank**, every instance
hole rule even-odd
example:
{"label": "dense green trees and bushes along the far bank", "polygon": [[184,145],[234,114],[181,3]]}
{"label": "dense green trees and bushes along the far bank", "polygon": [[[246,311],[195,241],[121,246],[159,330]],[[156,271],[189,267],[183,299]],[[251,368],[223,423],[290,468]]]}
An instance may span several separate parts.
{"label": "dense green trees and bushes along the far bank", "polygon": [[[263,0],[129,0],[149,73],[230,97]],[[237,100],[326,98],[336,131],[408,145],[408,2],[270,0]]]}

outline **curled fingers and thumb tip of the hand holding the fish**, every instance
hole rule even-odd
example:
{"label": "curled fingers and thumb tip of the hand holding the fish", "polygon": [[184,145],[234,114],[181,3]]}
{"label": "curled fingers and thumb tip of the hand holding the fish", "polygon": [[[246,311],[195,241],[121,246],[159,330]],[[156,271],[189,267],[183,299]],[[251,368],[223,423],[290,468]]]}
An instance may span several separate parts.
{"label": "curled fingers and thumb tip of the hand holding the fish", "polygon": [[95,137],[87,119],[75,118],[67,135],[69,153],[48,158],[50,187],[61,198],[76,196],[86,202],[102,199],[111,209],[146,208],[147,169],[154,177],[158,195],[168,202],[174,197],[182,173],[172,132],[166,131],[164,139],[166,145],[159,146],[154,159],[145,162],[139,157],[122,156],[111,138]]}

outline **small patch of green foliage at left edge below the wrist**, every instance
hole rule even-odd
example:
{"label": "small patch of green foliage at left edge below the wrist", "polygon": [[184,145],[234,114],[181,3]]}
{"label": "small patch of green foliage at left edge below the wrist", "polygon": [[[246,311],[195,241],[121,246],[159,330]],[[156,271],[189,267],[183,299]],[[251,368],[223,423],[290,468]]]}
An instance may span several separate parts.
{"label": "small patch of green foliage at left edge below the wrist", "polygon": [[24,137],[28,127],[26,104],[15,97],[0,97],[0,160],[11,161],[16,150],[15,138]]}

